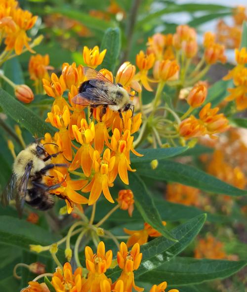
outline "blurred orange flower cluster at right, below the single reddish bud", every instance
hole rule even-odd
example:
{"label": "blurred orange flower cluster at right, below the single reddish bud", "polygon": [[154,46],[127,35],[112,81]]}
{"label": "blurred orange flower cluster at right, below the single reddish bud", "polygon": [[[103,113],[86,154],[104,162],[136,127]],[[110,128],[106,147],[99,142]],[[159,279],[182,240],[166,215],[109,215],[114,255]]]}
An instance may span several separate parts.
{"label": "blurred orange flower cluster at right, below the single reddish bud", "polygon": [[211,138],[215,138],[214,134],[226,131],[229,128],[228,120],[224,114],[217,114],[218,111],[218,107],[211,109],[211,103],[207,103],[199,113],[200,119],[191,115],[181,122],[180,136],[189,139],[208,134]]}

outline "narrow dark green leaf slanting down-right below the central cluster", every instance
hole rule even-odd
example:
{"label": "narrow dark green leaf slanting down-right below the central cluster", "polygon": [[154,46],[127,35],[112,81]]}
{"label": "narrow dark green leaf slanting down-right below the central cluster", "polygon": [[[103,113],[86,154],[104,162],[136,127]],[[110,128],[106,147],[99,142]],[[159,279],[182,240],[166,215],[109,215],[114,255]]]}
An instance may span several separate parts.
{"label": "narrow dark green leaf slanting down-right below the central cluster", "polygon": [[162,224],[161,215],[156,209],[152,196],[142,179],[137,174],[131,173],[129,184],[134,193],[135,206],[144,221],[158,230],[165,238],[176,241],[176,238]]}

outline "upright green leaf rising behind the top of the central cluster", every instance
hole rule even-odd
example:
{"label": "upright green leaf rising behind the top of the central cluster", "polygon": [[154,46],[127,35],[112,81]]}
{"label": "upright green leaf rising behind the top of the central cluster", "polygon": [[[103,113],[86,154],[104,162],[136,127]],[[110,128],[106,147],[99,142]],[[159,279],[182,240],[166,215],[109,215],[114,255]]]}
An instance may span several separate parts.
{"label": "upright green leaf rising behind the top of the central cluster", "polygon": [[98,70],[106,68],[114,73],[121,48],[121,36],[119,28],[109,28],[103,37],[100,50],[107,49],[106,55]]}

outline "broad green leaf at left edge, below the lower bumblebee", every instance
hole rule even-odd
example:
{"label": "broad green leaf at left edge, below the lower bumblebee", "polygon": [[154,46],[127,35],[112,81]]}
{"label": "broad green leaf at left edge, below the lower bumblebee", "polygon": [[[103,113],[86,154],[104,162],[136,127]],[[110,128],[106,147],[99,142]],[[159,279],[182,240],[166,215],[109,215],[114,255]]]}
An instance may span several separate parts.
{"label": "broad green leaf at left edge, below the lower bumblebee", "polygon": [[0,216],[0,222],[0,242],[6,245],[29,251],[30,244],[46,246],[60,239],[48,230],[23,219]]}

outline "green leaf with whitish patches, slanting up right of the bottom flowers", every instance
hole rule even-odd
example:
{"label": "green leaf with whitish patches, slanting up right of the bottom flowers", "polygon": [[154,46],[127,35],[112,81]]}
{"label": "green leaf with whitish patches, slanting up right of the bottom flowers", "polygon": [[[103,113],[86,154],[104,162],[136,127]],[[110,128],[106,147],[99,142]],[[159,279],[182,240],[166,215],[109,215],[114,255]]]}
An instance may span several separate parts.
{"label": "green leaf with whitish patches, slanting up right of the bottom flowers", "polygon": [[[171,230],[171,235],[178,242],[170,241],[164,237],[158,237],[149,243],[141,246],[142,262],[135,271],[135,278],[147,275],[155,269],[159,269],[171,258],[184,250],[197,236],[206,220],[206,214],[199,215]],[[116,267],[109,270],[108,276],[115,281],[120,275],[120,269]],[[161,278],[165,279],[165,278]],[[161,281],[160,281],[161,282]],[[160,283],[158,281],[158,283]]]}

